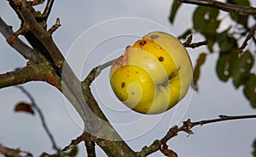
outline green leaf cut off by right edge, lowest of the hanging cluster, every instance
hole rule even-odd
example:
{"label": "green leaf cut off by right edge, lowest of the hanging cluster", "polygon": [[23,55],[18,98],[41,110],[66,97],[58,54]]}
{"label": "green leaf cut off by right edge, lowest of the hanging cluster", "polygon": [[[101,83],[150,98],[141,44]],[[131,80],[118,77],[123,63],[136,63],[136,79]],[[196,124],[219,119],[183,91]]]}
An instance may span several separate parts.
{"label": "green leaf cut off by right edge, lowest of the hanging cluster", "polygon": [[[250,101],[250,104],[252,105],[252,107],[256,109],[256,76],[255,74],[250,75],[243,89],[243,93],[245,94],[247,99]],[[254,153],[256,154],[255,145],[254,145]]]}

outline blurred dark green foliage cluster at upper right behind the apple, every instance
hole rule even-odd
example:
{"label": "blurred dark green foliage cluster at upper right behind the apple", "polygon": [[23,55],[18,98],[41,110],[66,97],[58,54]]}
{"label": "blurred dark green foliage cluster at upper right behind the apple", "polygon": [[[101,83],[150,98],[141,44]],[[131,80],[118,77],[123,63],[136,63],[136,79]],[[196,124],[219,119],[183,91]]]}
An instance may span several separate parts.
{"label": "blurred dark green foliage cluster at upper right behind the apple", "polygon": [[[240,6],[251,6],[249,0],[226,0]],[[169,16],[173,24],[178,8],[182,3],[173,1],[172,11]],[[185,39],[190,34],[200,34],[209,43],[207,53],[202,52],[195,64],[193,88],[199,90],[198,80],[201,74],[201,65],[207,61],[207,55],[218,53],[216,74],[220,81],[231,81],[236,89],[242,88],[243,94],[253,109],[256,109],[256,76],[255,76],[255,48],[256,45],[256,17],[248,14],[227,14],[224,18],[230,18],[230,25],[223,31],[218,31],[223,19],[219,19],[220,10],[198,6],[193,13],[193,28],[184,31],[180,39]],[[251,38],[247,41],[248,36]],[[246,47],[253,44],[254,47]],[[247,104],[246,104],[247,105]],[[256,139],[253,142],[253,156],[256,157]]]}

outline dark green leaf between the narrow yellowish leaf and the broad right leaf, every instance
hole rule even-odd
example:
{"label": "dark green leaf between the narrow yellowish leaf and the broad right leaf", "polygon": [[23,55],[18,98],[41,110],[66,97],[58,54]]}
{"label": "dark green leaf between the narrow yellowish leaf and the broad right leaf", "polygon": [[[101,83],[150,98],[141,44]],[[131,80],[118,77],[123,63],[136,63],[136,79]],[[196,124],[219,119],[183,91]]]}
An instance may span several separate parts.
{"label": "dark green leaf between the narrow yellowish leaf and the broad right leaf", "polygon": [[230,78],[230,53],[220,53],[217,61],[216,72],[221,81]]}

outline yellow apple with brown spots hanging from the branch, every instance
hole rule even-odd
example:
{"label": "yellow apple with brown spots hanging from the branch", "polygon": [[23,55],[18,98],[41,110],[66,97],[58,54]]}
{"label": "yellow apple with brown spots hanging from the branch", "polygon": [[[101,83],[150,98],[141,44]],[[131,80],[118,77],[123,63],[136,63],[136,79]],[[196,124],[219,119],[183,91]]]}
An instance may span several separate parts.
{"label": "yellow apple with brown spots hanging from the branch", "polygon": [[189,54],[174,36],[154,31],[116,59],[109,73],[113,93],[142,114],[171,109],[188,92],[193,68]]}

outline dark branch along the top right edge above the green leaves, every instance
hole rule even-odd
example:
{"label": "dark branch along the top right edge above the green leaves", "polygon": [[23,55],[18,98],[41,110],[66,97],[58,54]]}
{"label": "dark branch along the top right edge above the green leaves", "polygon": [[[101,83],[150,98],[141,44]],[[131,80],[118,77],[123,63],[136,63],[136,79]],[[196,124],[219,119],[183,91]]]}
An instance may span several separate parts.
{"label": "dark branch along the top right edge above the green leaves", "polygon": [[233,12],[241,15],[253,15],[254,17],[256,17],[256,8],[254,7],[240,6],[231,3],[222,3],[215,0],[177,0],[177,2],[218,8],[225,12]]}

